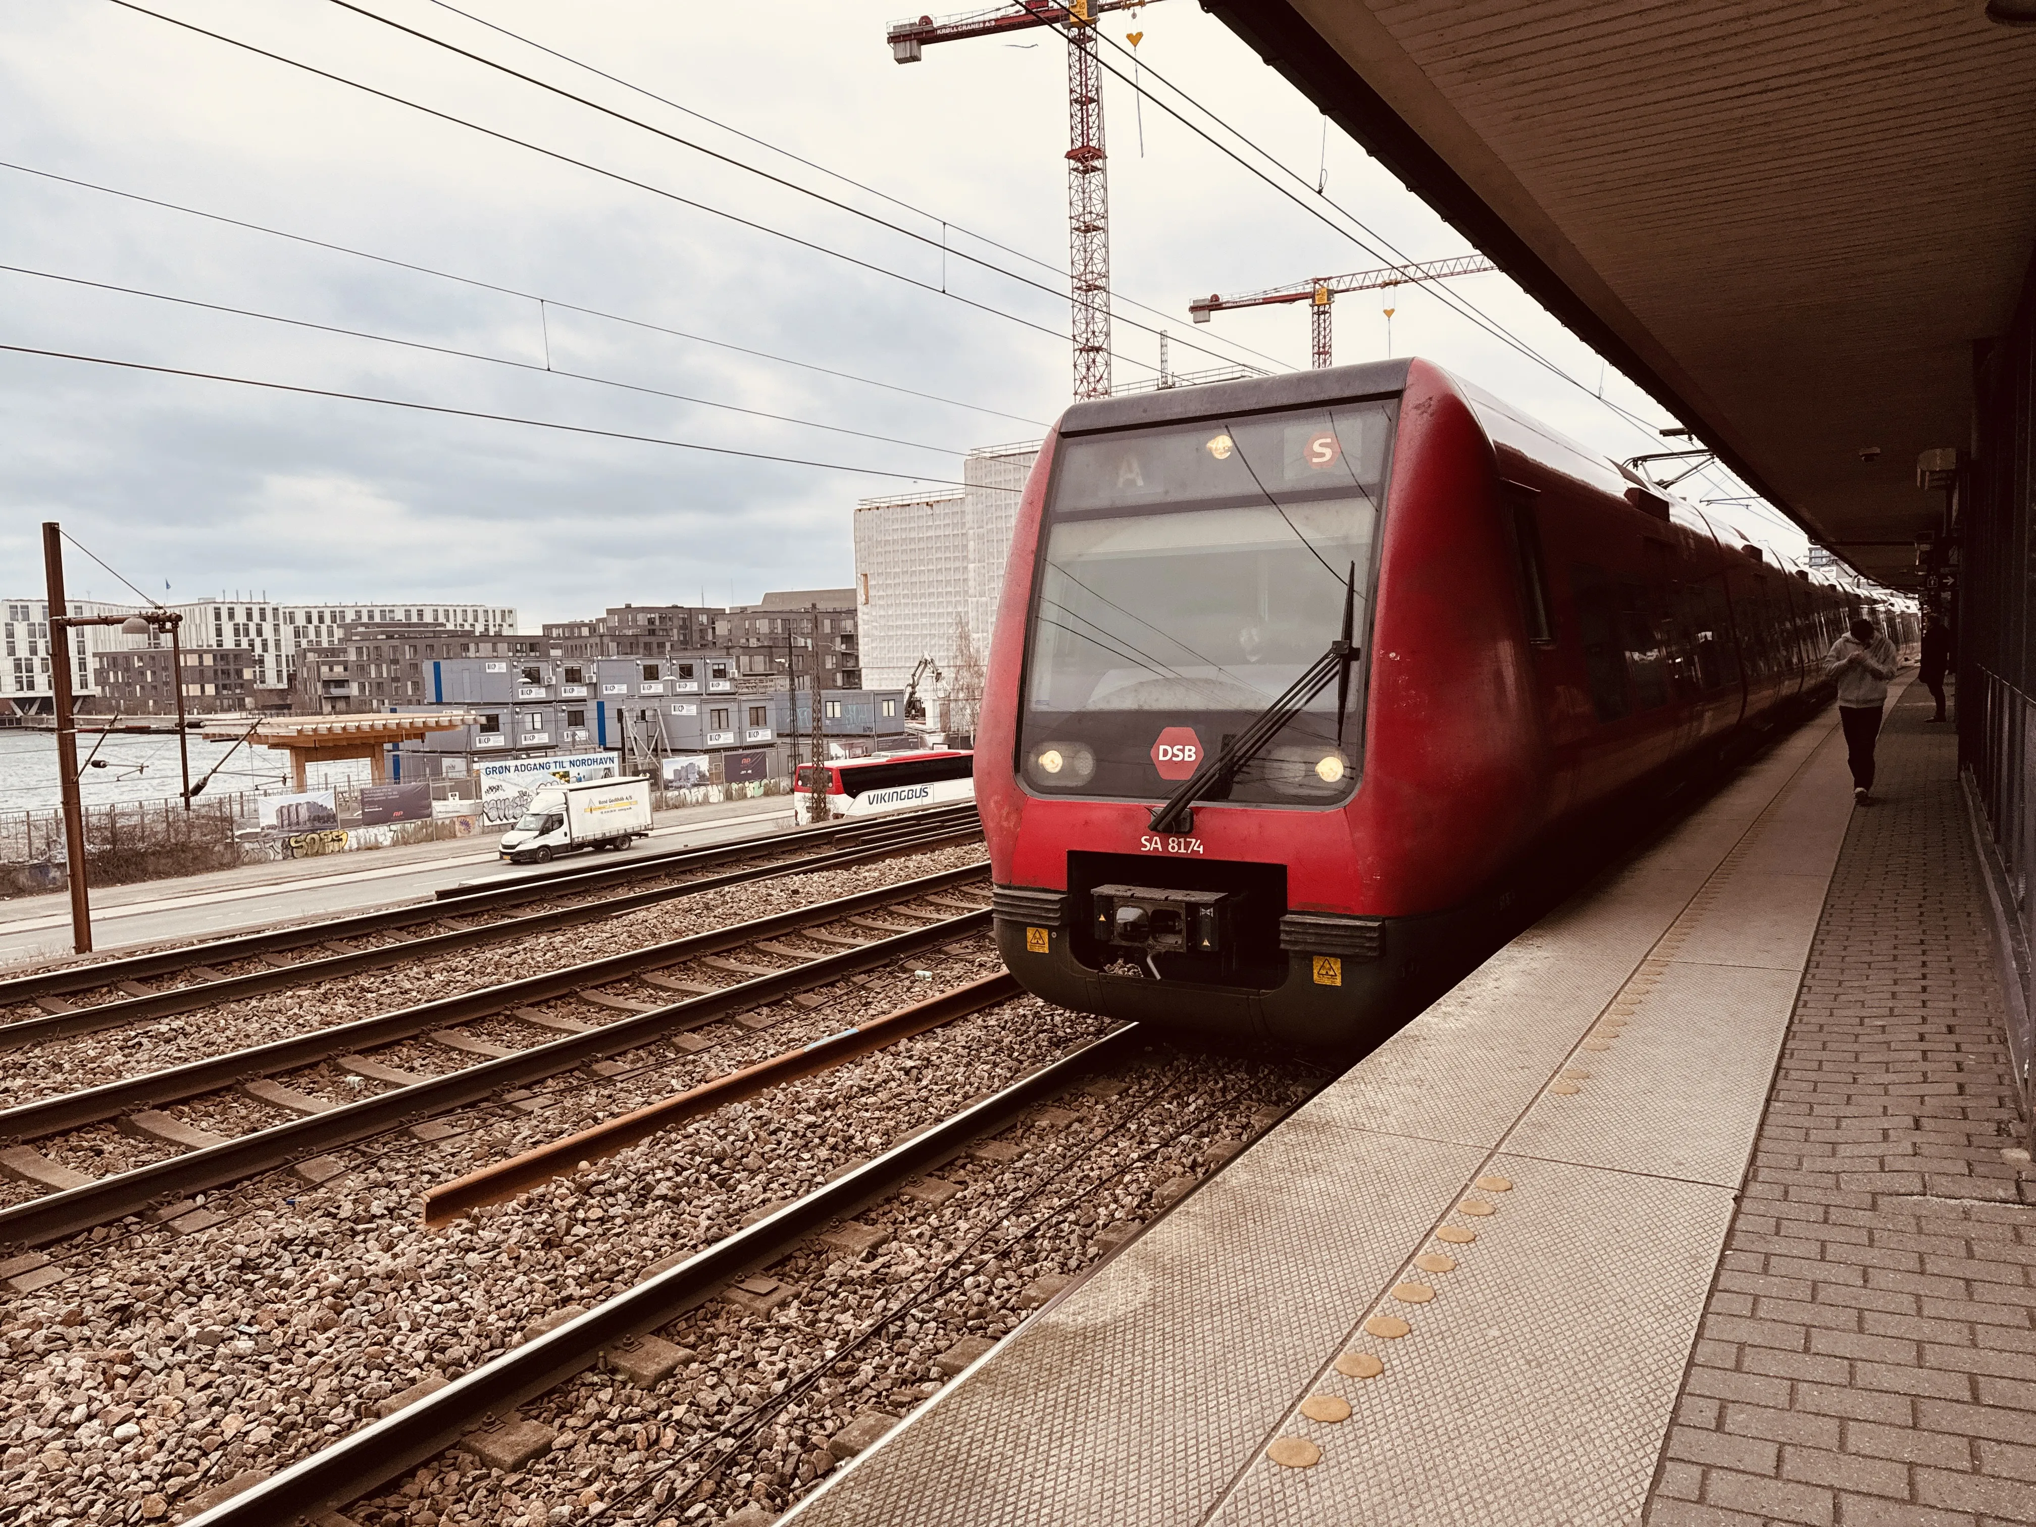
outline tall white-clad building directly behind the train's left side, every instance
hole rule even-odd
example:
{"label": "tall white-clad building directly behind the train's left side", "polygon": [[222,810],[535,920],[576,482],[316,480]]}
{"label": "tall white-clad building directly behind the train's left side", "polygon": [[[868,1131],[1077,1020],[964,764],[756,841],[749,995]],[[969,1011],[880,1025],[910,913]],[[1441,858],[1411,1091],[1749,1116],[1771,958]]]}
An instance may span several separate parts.
{"label": "tall white-clad building directly behind the train's left side", "polygon": [[961,493],[863,499],[855,507],[865,682],[904,688],[918,662],[930,658],[943,676],[935,698],[973,717],[1012,525],[1036,458],[1038,442],[983,446],[963,458]]}

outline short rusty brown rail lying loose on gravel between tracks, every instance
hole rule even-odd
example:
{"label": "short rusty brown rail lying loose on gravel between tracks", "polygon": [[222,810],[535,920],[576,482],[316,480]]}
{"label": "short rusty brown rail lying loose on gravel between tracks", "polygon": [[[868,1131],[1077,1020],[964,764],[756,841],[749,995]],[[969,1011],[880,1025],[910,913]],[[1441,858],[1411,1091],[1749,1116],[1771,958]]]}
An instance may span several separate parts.
{"label": "short rusty brown rail lying loose on gravel between tracks", "polygon": [[969,985],[943,992],[926,1002],[916,1002],[910,1008],[871,1018],[865,1024],[843,1028],[839,1034],[800,1044],[796,1051],[780,1051],[768,1061],[745,1065],[741,1071],[702,1081],[698,1087],[660,1097],[656,1104],[605,1118],[584,1130],[574,1130],[507,1161],[497,1161],[450,1183],[440,1183],[423,1195],[423,1224],[434,1228],[450,1224],[468,1209],[511,1199],[529,1187],[570,1173],[580,1163],[613,1156],[617,1150],[647,1140],[658,1130],[666,1130],[682,1120],[698,1118],[723,1104],[755,1097],[759,1091],[768,1091],[782,1081],[833,1071],[871,1051],[882,1051],[898,1040],[924,1034],[928,1028],[939,1028],[955,1018],[965,1018],[971,1012],[981,1012],[1020,996],[1024,996],[1024,987],[1018,985],[1018,977],[1002,971],[985,975],[981,981],[969,981]]}

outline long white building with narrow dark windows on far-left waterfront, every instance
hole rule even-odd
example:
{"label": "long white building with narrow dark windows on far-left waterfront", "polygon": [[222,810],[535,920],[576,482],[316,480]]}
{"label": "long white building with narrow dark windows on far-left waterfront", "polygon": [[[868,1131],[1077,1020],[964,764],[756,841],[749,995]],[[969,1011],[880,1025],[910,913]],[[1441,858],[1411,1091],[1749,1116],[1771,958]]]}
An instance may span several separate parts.
{"label": "long white building with narrow dark windows on far-left waterfront", "polygon": [[[41,599],[8,599],[0,603],[6,621],[0,623],[0,641],[6,645],[6,670],[0,670],[0,698],[12,700],[20,711],[49,711],[53,690],[49,686],[49,609]],[[116,615],[132,611],[134,605],[71,601],[73,615]],[[250,709],[281,709],[289,704],[289,690],[297,678],[297,652],[307,645],[332,643],[348,625],[362,623],[440,623],[466,627],[487,635],[509,635],[515,631],[515,609],[497,605],[364,605],[364,603],[285,603],[271,599],[193,599],[167,605],[183,615],[181,643],[189,649],[232,647],[246,654]],[[81,709],[104,709],[98,704],[96,660],[104,652],[140,652],[149,647],[169,647],[169,637],[122,635],[118,627],[83,627],[73,633],[73,654],[77,668],[73,686],[86,702]]]}

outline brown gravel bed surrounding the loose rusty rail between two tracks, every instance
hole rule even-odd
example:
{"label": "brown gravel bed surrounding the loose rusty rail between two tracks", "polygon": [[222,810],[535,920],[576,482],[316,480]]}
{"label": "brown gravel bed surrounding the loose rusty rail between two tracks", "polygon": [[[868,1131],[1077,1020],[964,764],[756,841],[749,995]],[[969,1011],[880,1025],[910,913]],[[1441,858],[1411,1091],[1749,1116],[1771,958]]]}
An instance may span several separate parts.
{"label": "brown gravel bed surrounding the loose rusty rail between two tracks", "polygon": [[[939,987],[996,963],[985,943],[937,953],[926,969]],[[837,1008],[731,1032],[639,1077],[643,1093],[829,1032],[849,1004],[873,1016],[930,989],[890,971]],[[627,1209],[540,1193],[450,1232],[419,1226],[426,1187],[633,1106],[613,1083],[570,1079],[535,1116],[474,1110],[450,1140],[399,1134],[340,1152],[346,1175],[318,1189],[279,1175],[214,1195],[206,1207],[226,1220],[193,1236],[130,1224],[53,1246],[69,1277],[0,1315],[0,1519],[153,1521],[157,1498],[175,1511],[244,1470],[279,1468],[373,1419],[389,1395],[485,1362],[531,1321],[621,1291],[649,1262],[1099,1032],[1095,1018],[1026,998],[920,1034],[639,1146],[662,1142],[666,1175],[639,1177]]]}

